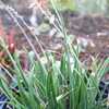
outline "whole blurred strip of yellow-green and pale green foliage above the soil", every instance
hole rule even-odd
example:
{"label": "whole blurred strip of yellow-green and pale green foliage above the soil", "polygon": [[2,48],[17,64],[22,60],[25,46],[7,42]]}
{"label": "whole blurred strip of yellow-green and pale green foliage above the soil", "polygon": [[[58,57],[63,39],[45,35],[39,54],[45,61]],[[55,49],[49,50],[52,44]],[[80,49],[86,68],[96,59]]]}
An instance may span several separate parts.
{"label": "whole blurred strip of yellow-green and pale green foliage above the soil", "polygon": [[59,10],[77,11],[82,14],[104,14],[108,0],[53,0]]}

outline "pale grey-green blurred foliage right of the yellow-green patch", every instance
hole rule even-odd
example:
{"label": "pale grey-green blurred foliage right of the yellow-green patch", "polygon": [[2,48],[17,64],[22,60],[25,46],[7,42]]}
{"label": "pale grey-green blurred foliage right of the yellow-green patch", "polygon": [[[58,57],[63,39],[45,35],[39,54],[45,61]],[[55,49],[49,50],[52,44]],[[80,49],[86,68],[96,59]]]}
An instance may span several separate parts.
{"label": "pale grey-green blurred foliage right of the yellow-green patch", "polygon": [[107,10],[107,0],[76,0],[77,10],[84,14],[104,14]]}

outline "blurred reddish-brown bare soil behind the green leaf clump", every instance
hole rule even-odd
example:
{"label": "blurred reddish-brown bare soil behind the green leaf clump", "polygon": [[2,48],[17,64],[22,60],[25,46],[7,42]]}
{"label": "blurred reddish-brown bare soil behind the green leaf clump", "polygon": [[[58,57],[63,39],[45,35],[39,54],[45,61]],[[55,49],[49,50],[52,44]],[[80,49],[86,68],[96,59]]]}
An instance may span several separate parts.
{"label": "blurred reddish-brown bare soil behind the green leaf clump", "polygon": [[[92,55],[100,53],[101,57],[109,57],[109,19],[89,15],[78,16],[72,15],[72,13],[66,15],[65,19],[69,34],[75,35],[76,39],[81,37],[94,43],[95,47],[92,47],[90,45],[87,46],[86,52],[90,52]],[[37,51],[40,52],[35,39],[32,38],[29,34],[28,37],[32,39]],[[57,44],[62,44],[61,38],[49,37],[46,35],[38,36],[38,39],[45,49],[53,49]],[[19,49],[22,47],[29,49],[28,43],[21,35],[16,37],[16,44]]]}

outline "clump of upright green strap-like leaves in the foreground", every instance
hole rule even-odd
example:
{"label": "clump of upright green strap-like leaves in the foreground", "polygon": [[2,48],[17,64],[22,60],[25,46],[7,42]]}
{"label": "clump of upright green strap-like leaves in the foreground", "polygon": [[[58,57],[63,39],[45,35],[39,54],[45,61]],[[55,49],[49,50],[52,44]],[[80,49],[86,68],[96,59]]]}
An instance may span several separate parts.
{"label": "clump of upright green strap-like leaves in the foreground", "polygon": [[[104,109],[104,104],[95,104],[99,81],[105,74],[104,68],[98,69],[98,64],[95,75],[87,75],[88,71],[78,61],[77,50],[72,52],[69,52],[70,59],[64,52],[59,63],[51,53],[46,64],[32,60],[27,75],[16,55],[17,88],[12,87],[13,92],[3,77],[0,78],[1,90],[10,99],[8,104],[16,109]],[[70,62],[71,58],[73,63]]]}

